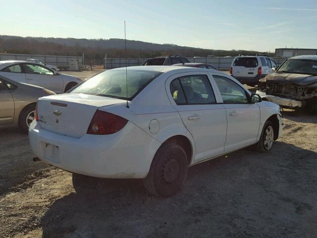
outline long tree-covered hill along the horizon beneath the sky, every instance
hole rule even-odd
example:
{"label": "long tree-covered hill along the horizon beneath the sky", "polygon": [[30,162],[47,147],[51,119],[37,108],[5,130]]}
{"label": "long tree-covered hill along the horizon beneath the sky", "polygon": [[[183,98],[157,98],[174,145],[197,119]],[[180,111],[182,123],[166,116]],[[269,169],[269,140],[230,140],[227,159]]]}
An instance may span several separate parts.
{"label": "long tree-covered hill along the horizon beneath the sky", "polygon": [[[0,35],[0,53],[68,55],[81,56],[85,53],[91,59],[123,58],[124,39],[75,39],[19,37]],[[244,50],[210,50],[172,44],[156,44],[143,41],[127,40],[129,58],[148,58],[161,55],[181,55],[186,57],[237,56],[239,54],[267,54],[265,52]]]}

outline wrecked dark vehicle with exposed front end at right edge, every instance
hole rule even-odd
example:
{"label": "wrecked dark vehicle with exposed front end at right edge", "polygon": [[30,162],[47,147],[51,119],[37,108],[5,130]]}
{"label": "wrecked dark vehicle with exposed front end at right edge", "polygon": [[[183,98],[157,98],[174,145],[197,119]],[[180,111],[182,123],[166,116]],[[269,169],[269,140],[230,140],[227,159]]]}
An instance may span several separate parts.
{"label": "wrecked dark vehicle with exposed front end at right edge", "polygon": [[286,108],[317,113],[317,56],[296,56],[259,80],[258,93]]}

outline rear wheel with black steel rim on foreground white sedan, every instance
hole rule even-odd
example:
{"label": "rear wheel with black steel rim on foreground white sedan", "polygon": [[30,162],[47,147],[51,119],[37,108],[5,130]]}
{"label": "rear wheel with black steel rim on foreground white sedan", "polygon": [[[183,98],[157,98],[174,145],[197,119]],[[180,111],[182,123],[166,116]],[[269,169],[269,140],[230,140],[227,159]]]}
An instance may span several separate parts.
{"label": "rear wheel with black steel rim on foreground white sedan", "polygon": [[147,190],[162,197],[175,195],[182,187],[188,168],[184,149],[174,141],[165,142],[157,151],[148,176]]}

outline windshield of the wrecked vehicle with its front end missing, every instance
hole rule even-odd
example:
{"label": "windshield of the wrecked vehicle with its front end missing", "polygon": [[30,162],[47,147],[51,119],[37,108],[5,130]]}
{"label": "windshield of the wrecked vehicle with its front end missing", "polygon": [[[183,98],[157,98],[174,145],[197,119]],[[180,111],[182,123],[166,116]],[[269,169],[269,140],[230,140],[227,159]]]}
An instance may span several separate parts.
{"label": "windshield of the wrecked vehicle with its front end missing", "polygon": [[317,60],[286,60],[276,72],[317,75]]}

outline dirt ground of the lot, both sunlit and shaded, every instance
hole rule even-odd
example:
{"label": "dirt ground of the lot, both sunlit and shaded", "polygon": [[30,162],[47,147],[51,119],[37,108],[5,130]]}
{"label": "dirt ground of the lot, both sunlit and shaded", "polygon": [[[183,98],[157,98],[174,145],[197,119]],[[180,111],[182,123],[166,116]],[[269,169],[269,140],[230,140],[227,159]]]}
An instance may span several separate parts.
{"label": "dirt ground of the lot, both sunlit and shaded", "polygon": [[171,198],[149,195],[141,179],[95,179],[97,189],[75,192],[70,173],[32,161],[26,135],[2,129],[0,237],[316,238],[317,116],[283,116],[269,153],[193,166]]}

